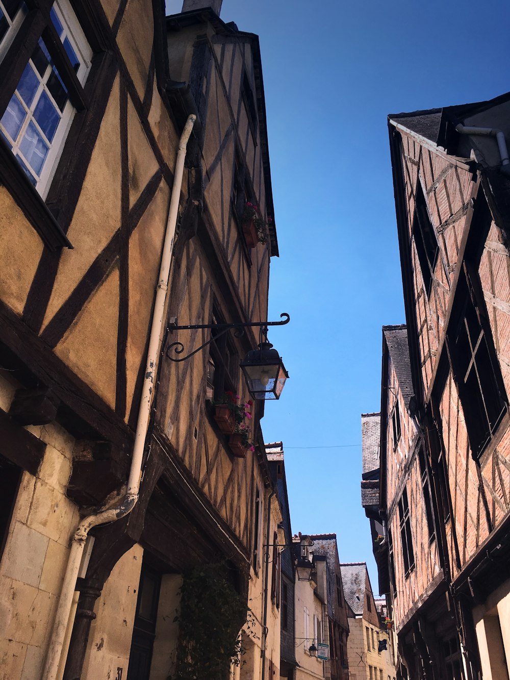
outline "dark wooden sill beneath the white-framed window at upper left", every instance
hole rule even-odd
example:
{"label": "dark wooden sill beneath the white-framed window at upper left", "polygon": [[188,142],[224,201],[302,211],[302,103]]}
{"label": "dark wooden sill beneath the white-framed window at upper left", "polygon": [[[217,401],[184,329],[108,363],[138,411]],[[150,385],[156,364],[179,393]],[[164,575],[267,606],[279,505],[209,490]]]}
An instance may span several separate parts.
{"label": "dark wooden sill beneath the white-framed window at upper left", "polygon": [[73,248],[50,209],[29,182],[14,154],[0,138],[0,182],[50,250]]}

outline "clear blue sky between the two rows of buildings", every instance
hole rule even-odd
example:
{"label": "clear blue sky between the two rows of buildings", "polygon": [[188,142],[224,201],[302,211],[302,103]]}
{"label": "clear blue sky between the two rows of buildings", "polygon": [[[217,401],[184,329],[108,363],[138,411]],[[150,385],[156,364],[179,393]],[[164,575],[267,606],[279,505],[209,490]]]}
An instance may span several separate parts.
{"label": "clear blue sky between the two rows of buildings", "polygon": [[262,429],[284,442],[292,530],[336,532],[377,593],[360,414],[380,409],[381,326],[405,322],[387,116],[510,90],[510,6],[224,0],[221,18],[260,37],[280,252],[269,318],[291,316],[269,335],[290,379]]}

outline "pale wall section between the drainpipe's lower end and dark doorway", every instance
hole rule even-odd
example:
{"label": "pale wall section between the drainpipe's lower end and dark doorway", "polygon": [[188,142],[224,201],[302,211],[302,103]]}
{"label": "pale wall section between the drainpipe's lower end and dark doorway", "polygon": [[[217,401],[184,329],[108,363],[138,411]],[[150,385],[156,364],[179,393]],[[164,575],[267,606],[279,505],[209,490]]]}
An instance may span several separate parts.
{"label": "pale wall section between the drainpipe's lower end and dark doorway", "polygon": [[105,582],[90,626],[83,680],[126,677],[142,556],[143,549],[134,545]]}

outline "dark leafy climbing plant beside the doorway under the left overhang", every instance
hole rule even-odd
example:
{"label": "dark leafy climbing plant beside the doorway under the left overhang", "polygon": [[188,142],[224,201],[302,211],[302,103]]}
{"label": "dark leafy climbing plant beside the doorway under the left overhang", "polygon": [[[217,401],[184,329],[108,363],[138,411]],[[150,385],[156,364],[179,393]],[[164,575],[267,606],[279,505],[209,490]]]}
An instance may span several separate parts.
{"label": "dark leafy climbing plant beside the doorway under the left overhang", "polygon": [[171,680],[223,680],[243,653],[239,630],[248,605],[226,579],[224,564],[184,575],[181,587],[177,671]]}

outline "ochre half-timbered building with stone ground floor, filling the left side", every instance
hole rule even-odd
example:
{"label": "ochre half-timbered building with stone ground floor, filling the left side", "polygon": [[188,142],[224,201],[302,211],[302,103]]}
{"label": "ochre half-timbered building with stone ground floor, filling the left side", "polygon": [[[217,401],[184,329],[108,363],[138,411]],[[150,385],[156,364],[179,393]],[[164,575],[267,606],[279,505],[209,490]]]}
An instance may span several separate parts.
{"label": "ochre half-timbered building with stone ground floor, filling the left side", "polygon": [[[265,322],[278,254],[258,37],[212,4],[186,0],[165,19],[159,0],[0,0],[0,658],[10,680],[173,675],[183,575],[210,564],[244,602],[256,594],[244,634],[257,653],[235,673],[278,673],[279,575],[268,565],[282,513],[263,403],[249,403],[239,370],[260,338],[169,330],[175,319]],[[255,238],[246,203],[265,225]],[[167,352],[207,341],[181,362]],[[226,392],[249,413],[241,445],[215,418]],[[77,538],[80,520],[108,508],[92,540]]]}

